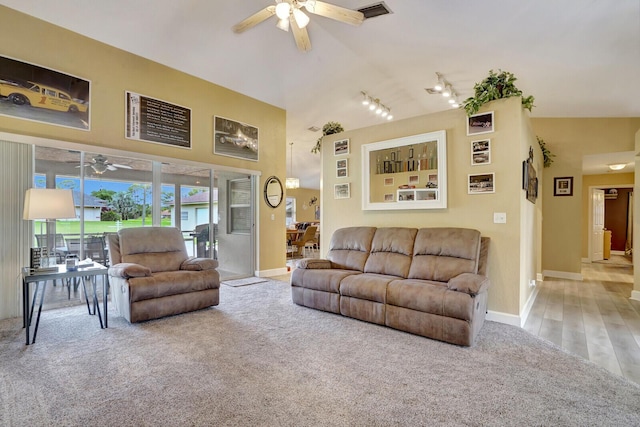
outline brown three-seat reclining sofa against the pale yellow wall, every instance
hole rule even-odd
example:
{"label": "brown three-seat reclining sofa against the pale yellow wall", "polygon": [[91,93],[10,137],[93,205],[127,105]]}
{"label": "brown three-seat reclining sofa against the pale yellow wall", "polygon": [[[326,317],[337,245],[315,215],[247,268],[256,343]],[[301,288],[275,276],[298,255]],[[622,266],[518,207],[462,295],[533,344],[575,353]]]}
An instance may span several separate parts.
{"label": "brown three-seat reclining sofa against the pale yellow wall", "polygon": [[466,228],[348,227],[291,274],[293,302],[471,346],[487,310],[489,238]]}

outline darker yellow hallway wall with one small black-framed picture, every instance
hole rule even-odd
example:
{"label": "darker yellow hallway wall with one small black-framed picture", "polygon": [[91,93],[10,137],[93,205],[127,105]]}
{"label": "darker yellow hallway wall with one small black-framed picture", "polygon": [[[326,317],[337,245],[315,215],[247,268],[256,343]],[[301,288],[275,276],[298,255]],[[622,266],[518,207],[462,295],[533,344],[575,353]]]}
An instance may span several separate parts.
{"label": "darker yellow hallway wall with one small black-framed picture", "polygon": [[[556,155],[545,169],[543,270],[580,274],[582,261],[582,158],[633,151],[640,118],[531,119],[536,135]],[[572,176],[573,196],[554,197],[553,178]]]}

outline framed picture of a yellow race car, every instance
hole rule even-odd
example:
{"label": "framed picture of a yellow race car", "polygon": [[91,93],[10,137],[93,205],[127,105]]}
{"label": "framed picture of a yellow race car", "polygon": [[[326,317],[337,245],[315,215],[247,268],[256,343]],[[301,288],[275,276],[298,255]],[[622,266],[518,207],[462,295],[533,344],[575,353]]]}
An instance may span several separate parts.
{"label": "framed picture of a yellow race car", "polygon": [[90,130],[89,80],[0,56],[0,115]]}

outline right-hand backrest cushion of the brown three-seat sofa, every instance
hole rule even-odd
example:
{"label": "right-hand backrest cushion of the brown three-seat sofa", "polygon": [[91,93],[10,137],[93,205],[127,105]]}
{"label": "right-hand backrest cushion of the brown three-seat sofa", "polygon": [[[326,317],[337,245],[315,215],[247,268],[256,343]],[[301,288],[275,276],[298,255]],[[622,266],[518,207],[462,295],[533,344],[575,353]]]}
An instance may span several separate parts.
{"label": "right-hand backrest cushion of the brown three-seat sofa", "polygon": [[421,228],[413,246],[409,279],[448,282],[477,273],[480,232],[468,228]]}

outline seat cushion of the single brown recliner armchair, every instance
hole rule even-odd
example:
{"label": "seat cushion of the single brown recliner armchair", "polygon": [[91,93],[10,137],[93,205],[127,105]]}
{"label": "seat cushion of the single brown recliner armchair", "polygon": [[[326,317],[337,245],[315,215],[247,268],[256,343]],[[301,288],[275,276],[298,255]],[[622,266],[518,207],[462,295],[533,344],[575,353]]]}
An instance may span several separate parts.
{"label": "seat cushion of the single brown recliner armchair", "polygon": [[163,271],[150,277],[129,279],[129,301],[143,301],[205,289],[220,288],[217,270],[203,271]]}

